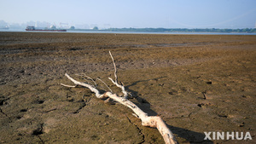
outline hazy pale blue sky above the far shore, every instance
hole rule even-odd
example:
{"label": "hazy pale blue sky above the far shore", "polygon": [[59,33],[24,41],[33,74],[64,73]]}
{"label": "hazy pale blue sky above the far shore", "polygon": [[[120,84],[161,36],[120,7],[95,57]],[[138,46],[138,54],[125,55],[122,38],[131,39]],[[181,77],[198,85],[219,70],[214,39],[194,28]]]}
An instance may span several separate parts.
{"label": "hazy pale blue sky above the far shore", "polygon": [[0,0],[0,20],[99,28],[254,28],[256,0]]}

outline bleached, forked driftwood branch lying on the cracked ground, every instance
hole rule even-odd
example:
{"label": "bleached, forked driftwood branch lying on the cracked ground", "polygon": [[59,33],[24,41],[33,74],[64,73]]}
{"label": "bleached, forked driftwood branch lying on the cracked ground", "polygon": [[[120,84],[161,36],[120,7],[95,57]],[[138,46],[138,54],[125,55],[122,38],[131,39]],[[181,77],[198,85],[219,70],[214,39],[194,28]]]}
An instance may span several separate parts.
{"label": "bleached, forked driftwood branch lying on the cracked ground", "polygon": [[[113,56],[111,55],[110,51],[109,51],[109,55],[111,56],[111,58],[113,60]],[[124,84],[118,84],[117,69],[116,69],[114,60],[113,60],[113,66],[114,66],[115,81],[113,81],[112,78],[109,78],[109,79],[111,80],[111,82],[113,84],[115,84],[117,87],[119,87],[122,90],[122,93],[124,94],[123,96],[118,96],[109,91],[105,92],[104,94],[101,94],[100,91],[98,89],[96,89],[96,86],[93,86],[91,84],[81,83],[81,82],[71,78],[67,73],[65,74],[65,76],[69,80],[71,80],[75,85],[80,85],[80,86],[90,89],[90,91],[94,92],[96,94],[96,97],[99,99],[108,98],[106,101],[109,101],[109,99],[111,99],[113,101],[117,101],[117,102],[125,105],[125,107],[131,108],[131,110],[133,112],[135,112],[135,115],[137,116],[137,118],[140,118],[142,120],[143,126],[149,126],[152,128],[157,128],[157,130],[159,130],[159,132],[163,136],[166,144],[177,143],[174,135],[172,134],[172,131],[168,129],[168,127],[166,126],[166,123],[159,116],[148,116],[148,113],[143,112],[139,107],[137,107],[137,105],[135,105],[133,102],[131,102],[127,99],[129,93],[127,91],[125,91]],[[66,86],[66,87],[76,87],[76,86],[71,86],[71,85],[66,85],[66,84],[61,84],[61,85]]]}

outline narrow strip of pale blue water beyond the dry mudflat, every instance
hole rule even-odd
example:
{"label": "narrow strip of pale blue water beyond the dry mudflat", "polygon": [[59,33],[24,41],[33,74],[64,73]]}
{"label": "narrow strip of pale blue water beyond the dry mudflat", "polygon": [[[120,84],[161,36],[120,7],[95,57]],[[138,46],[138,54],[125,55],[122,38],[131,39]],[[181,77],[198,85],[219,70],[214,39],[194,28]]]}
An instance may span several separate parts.
{"label": "narrow strip of pale blue water beyond the dry mudflat", "polygon": [[[26,32],[25,29],[0,29],[0,32]],[[31,31],[30,31],[31,32]],[[38,31],[34,31],[38,32]],[[107,31],[67,31],[66,33],[113,33],[113,34],[184,34],[184,35],[256,35],[247,32],[107,32]]]}

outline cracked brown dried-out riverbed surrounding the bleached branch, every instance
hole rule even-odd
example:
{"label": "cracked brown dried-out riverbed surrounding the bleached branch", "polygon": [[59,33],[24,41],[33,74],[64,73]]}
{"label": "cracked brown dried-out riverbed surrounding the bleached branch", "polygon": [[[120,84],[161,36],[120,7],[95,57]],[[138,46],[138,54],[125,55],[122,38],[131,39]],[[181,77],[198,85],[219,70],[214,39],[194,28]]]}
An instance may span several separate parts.
{"label": "cracked brown dried-out riverbed surrounding the bleached branch", "polygon": [[60,85],[86,74],[119,93],[109,50],[131,101],[180,143],[256,142],[256,36],[0,32],[0,143],[164,143],[129,108]]}

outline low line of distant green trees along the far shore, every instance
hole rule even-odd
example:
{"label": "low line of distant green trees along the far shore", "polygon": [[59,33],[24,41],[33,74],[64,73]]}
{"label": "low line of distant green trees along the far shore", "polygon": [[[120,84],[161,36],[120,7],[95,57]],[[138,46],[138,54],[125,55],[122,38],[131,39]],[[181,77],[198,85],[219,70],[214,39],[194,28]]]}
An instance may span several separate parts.
{"label": "low line of distant green trees along the far shore", "polygon": [[256,33],[256,28],[243,29],[218,29],[218,28],[108,28],[98,30],[97,27],[93,29],[75,29],[75,31],[106,31],[106,32],[247,32]]}

